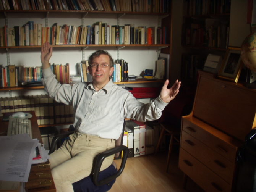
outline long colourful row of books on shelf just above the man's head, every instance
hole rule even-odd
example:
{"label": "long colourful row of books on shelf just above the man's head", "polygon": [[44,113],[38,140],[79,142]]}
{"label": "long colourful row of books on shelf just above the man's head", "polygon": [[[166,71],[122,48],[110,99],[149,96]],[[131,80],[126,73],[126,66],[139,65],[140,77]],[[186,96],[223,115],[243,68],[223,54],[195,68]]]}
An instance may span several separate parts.
{"label": "long colourful row of books on shelf just above the man's head", "polygon": [[88,45],[88,44],[167,44],[166,27],[135,27],[134,24],[124,26],[94,23],[92,26],[58,25],[42,27],[34,21],[23,26],[0,28],[0,46],[42,45]]}

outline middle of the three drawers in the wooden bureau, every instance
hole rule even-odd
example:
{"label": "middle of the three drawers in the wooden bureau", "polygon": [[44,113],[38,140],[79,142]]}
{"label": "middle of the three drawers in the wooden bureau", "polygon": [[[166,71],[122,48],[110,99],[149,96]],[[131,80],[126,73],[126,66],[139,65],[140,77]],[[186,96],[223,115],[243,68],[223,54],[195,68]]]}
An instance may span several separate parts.
{"label": "middle of the three drawers in the wooden bureau", "polygon": [[232,163],[185,131],[182,131],[181,134],[181,148],[186,150],[186,152],[190,153],[194,158],[199,160],[214,173],[218,174],[229,184],[232,184],[235,163]]}

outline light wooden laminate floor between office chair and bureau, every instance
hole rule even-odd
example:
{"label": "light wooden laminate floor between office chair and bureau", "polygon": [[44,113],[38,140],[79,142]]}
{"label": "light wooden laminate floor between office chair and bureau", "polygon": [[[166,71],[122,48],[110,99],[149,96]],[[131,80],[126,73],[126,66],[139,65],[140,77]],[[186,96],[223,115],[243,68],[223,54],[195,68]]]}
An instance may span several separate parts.
{"label": "light wooden laminate floor between office chair and bureau", "polygon": [[[172,152],[169,173],[166,173],[167,154],[128,158],[123,173],[109,192],[203,192],[188,179],[183,189],[183,173],[178,169],[178,152]],[[115,160],[117,166],[121,160]]]}

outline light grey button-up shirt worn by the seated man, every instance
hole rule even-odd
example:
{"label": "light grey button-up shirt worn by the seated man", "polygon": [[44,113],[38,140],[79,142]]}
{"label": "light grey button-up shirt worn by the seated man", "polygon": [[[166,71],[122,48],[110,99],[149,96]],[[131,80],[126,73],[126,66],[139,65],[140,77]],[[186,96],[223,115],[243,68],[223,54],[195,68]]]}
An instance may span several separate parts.
{"label": "light grey button-up shirt worn by the seated man", "polygon": [[148,104],[141,103],[128,90],[113,84],[112,79],[96,91],[88,82],[60,84],[50,67],[43,69],[42,73],[50,97],[57,102],[72,103],[75,129],[101,138],[118,139],[125,118],[138,121],[159,119],[168,104],[160,97]]}

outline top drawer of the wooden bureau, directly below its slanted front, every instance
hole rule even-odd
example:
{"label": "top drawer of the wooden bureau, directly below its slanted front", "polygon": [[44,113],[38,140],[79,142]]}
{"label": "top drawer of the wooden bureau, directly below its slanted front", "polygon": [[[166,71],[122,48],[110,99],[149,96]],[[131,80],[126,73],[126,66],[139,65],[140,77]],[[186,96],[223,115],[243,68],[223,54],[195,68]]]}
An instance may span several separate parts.
{"label": "top drawer of the wooden bureau, directly below its slanted front", "polygon": [[[210,129],[214,129],[211,127]],[[212,134],[206,129],[201,128],[187,119],[183,118],[183,124],[182,124],[182,130],[190,134],[191,136],[195,137],[205,145],[207,145],[209,148],[212,148],[215,152],[220,153],[225,158],[230,160],[231,162],[235,161],[236,158],[236,152],[237,152],[237,146],[234,146],[232,144],[229,144],[219,138],[220,135],[218,134]],[[213,130],[212,132],[214,132]],[[218,133],[218,131],[217,131]]]}

